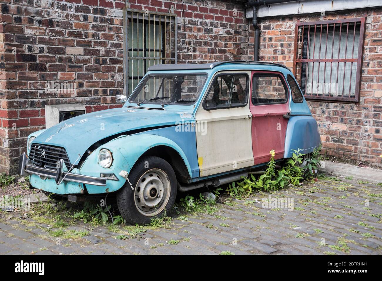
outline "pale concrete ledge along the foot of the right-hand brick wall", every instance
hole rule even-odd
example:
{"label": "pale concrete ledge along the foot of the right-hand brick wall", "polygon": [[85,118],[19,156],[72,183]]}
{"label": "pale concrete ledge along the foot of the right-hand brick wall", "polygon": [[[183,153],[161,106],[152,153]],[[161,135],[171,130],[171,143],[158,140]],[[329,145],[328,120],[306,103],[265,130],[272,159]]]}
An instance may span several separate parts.
{"label": "pale concrete ledge along the foot of the right-hand brick wall", "polygon": [[342,178],[353,177],[357,181],[368,181],[377,184],[382,182],[382,170],[331,161],[324,161],[324,163],[324,167],[318,169],[322,173]]}

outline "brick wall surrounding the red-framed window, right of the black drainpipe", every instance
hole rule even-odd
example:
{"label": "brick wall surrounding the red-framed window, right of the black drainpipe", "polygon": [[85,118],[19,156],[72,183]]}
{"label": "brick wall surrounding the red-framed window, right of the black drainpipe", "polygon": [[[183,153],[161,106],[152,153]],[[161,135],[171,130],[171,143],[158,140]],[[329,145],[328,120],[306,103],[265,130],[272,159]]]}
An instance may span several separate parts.
{"label": "brick wall surrounding the red-framed window, right of the black drainpipe", "polygon": [[[358,165],[364,163],[382,168],[382,8],[361,9],[308,16],[275,17],[260,19],[261,61],[282,63],[293,68],[295,23],[361,17],[367,13],[364,42],[363,69],[359,107],[354,103],[309,101],[316,118],[322,140],[323,152],[339,158],[350,159]],[[249,42],[253,43],[251,26]],[[253,55],[253,50],[249,50]]]}

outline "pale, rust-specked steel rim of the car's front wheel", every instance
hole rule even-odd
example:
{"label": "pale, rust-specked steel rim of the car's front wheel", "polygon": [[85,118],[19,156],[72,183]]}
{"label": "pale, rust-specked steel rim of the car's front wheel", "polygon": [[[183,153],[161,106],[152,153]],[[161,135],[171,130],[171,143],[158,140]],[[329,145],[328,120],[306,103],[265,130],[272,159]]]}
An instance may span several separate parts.
{"label": "pale, rust-specked steel rim of the car's front wheel", "polygon": [[156,216],[170,199],[170,179],[165,171],[154,168],[146,171],[134,189],[134,203],[144,216]]}

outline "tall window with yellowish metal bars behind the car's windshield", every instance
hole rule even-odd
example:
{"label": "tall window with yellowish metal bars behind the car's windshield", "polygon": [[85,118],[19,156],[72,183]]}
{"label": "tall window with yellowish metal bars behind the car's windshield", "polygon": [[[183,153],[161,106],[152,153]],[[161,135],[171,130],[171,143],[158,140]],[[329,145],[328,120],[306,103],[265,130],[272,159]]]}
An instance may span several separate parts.
{"label": "tall window with yellowish metal bars behind the car's windshield", "polygon": [[174,13],[123,9],[126,96],[133,92],[149,66],[177,63],[177,23]]}

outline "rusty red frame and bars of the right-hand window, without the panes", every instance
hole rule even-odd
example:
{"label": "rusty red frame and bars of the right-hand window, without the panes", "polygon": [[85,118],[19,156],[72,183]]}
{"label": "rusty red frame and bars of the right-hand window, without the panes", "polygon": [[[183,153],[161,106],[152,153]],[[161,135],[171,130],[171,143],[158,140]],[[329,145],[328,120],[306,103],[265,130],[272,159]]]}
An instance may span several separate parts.
{"label": "rusty red frame and bars of the right-hand window, without the panes", "polygon": [[[325,59],[303,59],[303,33],[304,33],[304,28],[309,28],[309,31],[312,31],[312,28],[314,32],[316,32],[316,27],[318,26],[320,28],[320,36],[322,36],[322,27],[328,28],[330,24],[333,24],[337,26],[337,24],[340,25],[340,27],[344,27],[345,29],[348,28],[349,23],[360,23],[360,29],[359,29],[359,42],[358,42],[358,54],[357,58],[325,58]],[[302,27],[303,31],[301,32],[302,36],[299,36],[298,34],[298,29]],[[360,17],[360,18],[346,18],[346,19],[333,19],[333,20],[323,20],[323,21],[306,21],[306,22],[300,22],[298,21],[296,23],[295,27],[295,48],[294,48],[294,60],[293,60],[293,74],[295,77],[297,77],[297,63],[301,63],[301,66],[299,68],[300,71],[300,76],[299,76],[299,83],[298,86],[301,89],[301,92],[306,100],[324,100],[324,101],[340,101],[340,102],[359,102],[359,96],[360,96],[360,90],[361,90],[361,76],[362,76],[362,63],[363,63],[363,49],[364,49],[364,40],[365,40],[365,29],[366,29],[366,16]],[[327,29],[328,30],[328,29]],[[347,29],[347,32],[351,32],[350,29]],[[346,34],[348,36],[348,33]],[[298,40],[299,37],[301,37],[301,40]],[[326,41],[327,44],[328,41]],[[299,44],[302,43],[302,44]],[[299,47],[300,46],[300,47]],[[354,45],[355,46],[355,45]],[[346,50],[347,50],[347,39],[346,39]],[[301,50],[299,53],[299,58],[297,58],[298,50]],[[309,50],[308,50],[309,52]],[[356,61],[354,61],[356,60]],[[350,97],[350,91],[349,91],[349,97],[346,97],[344,93],[342,92],[342,96],[337,96],[337,97],[331,97],[331,96],[319,96],[318,94],[305,94],[303,92],[303,89],[301,87],[301,73],[302,73],[302,63],[337,63],[337,69],[339,69],[338,65],[340,63],[345,63],[344,69],[346,68],[346,63],[347,62],[356,62],[357,63],[357,68],[356,68],[356,79],[355,79],[355,86],[354,86],[354,97]],[[319,66],[320,69],[320,66]],[[324,68],[325,69],[325,68]],[[325,70],[324,70],[325,72]],[[338,73],[337,73],[338,76]],[[343,80],[345,81],[345,79]]]}

